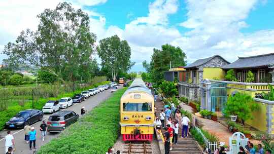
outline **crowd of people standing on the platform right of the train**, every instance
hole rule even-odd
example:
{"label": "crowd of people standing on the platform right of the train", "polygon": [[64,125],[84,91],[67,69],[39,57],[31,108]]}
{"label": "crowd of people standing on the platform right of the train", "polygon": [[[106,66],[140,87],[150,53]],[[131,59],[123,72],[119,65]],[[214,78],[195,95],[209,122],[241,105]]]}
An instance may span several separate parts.
{"label": "crowd of people standing on the platform right of the train", "polygon": [[173,143],[178,144],[180,129],[182,130],[181,138],[188,137],[190,120],[187,115],[182,115],[180,108],[180,106],[175,108],[173,103],[171,106],[164,105],[164,109],[159,114],[160,118],[156,117],[154,122],[159,133],[161,133],[161,129],[166,130],[164,133],[165,154],[168,154],[172,150]]}

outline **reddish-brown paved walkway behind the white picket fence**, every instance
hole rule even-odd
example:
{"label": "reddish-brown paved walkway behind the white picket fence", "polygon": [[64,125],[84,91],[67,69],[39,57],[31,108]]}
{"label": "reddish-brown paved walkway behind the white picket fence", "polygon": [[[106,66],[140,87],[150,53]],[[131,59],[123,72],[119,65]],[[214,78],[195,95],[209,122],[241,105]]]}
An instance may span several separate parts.
{"label": "reddish-brown paved walkway behind the white picket fence", "polygon": [[[202,123],[203,125],[202,129],[215,134],[216,136],[219,137],[220,142],[225,142],[226,145],[229,145],[229,137],[232,135],[232,133],[228,131],[227,127],[225,127],[219,122],[198,117],[197,115],[194,114],[192,107],[188,106],[185,103],[181,103],[180,105],[184,110],[188,110],[189,112],[193,113],[194,117],[198,119],[199,122]],[[255,144],[259,144],[258,140],[250,140],[250,141]]]}

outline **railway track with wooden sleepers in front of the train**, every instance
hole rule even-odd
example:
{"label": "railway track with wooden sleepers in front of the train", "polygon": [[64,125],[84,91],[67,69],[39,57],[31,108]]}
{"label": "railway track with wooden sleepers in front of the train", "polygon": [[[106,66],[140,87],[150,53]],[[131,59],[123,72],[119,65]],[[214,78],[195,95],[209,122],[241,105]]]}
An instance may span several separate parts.
{"label": "railway track with wooden sleepers in front of the train", "polygon": [[127,154],[147,154],[152,153],[151,144],[146,142],[129,142],[125,144],[123,153]]}

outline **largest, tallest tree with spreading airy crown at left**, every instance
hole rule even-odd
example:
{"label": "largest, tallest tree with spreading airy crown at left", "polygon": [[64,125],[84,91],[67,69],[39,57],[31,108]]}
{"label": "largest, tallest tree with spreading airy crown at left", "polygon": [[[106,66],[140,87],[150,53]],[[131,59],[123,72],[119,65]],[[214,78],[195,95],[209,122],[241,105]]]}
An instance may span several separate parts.
{"label": "largest, tallest tree with spreading airy crown at left", "polygon": [[5,63],[45,68],[61,81],[75,81],[90,61],[96,39],[88,14],[64,2],[37,17],[38,30],[26,29],[15,43],[5,46]]}

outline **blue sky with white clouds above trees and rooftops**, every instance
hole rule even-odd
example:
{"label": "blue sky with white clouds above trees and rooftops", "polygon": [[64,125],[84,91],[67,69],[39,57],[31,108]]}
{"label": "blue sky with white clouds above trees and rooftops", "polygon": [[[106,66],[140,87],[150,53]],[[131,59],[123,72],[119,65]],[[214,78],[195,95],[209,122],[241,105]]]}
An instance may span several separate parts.
{"label": "blue sky with white clouds above trees and rooftops", "polygon": [[[14,42],[23,29],[35,30],[36,15],[61,1],[0,0],[0,51]],[[273,0],[70,0],[87,12],[91,31],[102,38],[117,34],[127,40],[136,64],[150,61],[153,48],[179,46],[188,63],[221,55],[233,62],[237,56],[274,52]],[[5,55],[0,54],[0,61]]]}

